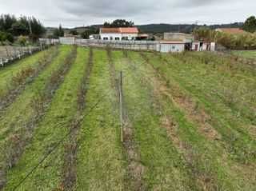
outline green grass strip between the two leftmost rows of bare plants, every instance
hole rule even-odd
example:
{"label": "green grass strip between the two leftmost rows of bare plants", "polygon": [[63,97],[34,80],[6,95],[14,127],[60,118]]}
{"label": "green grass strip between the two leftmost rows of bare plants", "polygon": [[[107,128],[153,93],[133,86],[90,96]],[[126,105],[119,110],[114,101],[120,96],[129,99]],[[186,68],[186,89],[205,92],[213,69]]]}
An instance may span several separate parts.
{"label": "green grass strip between the two leftmost rows of bare plants", "polygon": [[60,53],[50,66],[46,67],[46,70],[44,70],[32,84],[26,86],[23,93],[17,97],[0,117],[1,171],[5,172],[6,165],[16,158],[16,153],[20,153],[22,149],[25,149],[25,145],[29,143],[38,120],[36,118],[38,117],[38,109],[32,104],[34,97],[37,97],[38,94],[42,94],[46,89],[51,74],[62,67],[62,63],[66,59],[66,56],[70,54],[70,51],[70,46],[62,46]]}

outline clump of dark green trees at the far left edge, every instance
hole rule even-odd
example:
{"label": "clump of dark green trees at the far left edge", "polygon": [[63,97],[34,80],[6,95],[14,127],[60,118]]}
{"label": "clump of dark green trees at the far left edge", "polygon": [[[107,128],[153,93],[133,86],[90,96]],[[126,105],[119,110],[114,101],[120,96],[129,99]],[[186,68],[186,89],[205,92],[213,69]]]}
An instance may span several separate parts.
{"label": "clump of dark green trees at the far left edge", "polygon": [[0,16],[0,41],[14,42],[18,36],[28,36],[31,40],[40,38],[46,29],[42,23],[34,17],[15,17],[10,14]]}

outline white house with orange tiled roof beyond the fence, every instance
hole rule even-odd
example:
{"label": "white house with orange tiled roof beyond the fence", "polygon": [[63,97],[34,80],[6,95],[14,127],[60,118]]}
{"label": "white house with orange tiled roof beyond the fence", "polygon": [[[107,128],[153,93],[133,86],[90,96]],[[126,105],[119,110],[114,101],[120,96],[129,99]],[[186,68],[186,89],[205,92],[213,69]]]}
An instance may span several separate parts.
{"label": "white house with orange tiled roof beyond the fence", "polygon": [[101,28],[100,36],[102,40],[109,41],[134,41],[138,38],[137,27]]}

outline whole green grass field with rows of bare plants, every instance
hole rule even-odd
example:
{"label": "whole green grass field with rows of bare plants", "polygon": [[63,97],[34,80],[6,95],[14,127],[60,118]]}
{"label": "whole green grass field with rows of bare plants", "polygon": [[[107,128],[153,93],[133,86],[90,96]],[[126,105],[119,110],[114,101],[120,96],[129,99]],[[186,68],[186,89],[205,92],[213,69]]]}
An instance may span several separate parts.
{"label": "whole green grass field with rows of bare plants", "polygon": [[256,189],[254,66],[56,46],[0,97],[0,190]]}

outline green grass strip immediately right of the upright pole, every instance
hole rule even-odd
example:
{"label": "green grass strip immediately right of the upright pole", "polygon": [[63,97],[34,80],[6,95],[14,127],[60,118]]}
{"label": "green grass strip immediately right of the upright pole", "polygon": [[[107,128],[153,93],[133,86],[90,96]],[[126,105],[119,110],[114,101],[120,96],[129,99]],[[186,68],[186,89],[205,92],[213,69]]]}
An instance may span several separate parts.
{"label": "green grass strip immediately right of the upright pole", "polygon": [[113,57],[117,70],[122,70],[124,75],[124,101],[140,162],[145,168],[143,187],[146,190],[194,189],[182,157],[167,137],[166,129],[161,127],[161,111],[154,108],[158,103],[152,87],[143,78],[146,71],[133,70],[120,51],[114,52]]}

